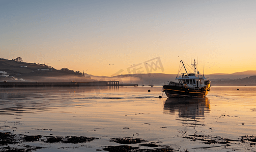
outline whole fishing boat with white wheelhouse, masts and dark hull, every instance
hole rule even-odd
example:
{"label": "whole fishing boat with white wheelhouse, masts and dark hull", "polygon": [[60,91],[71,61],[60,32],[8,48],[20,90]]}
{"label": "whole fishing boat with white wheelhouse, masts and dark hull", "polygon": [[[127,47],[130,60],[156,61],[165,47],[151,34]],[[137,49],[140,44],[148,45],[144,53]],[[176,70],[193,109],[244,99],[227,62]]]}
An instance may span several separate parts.
{"label": "whole fishing boat with white wheelhouse, masts and dark hull", "polygon": [[[204,74],[201,74],[197,68],[197,63],[194,60],[193,65],[194,71],[188,73],[187,69],[183,63],[182,67],[185,68],[186,73],[179,73],[175,80],[178,82],[168,82],[163,85],[163,92],[168,98],[174,97],[205,97],[211,88],[211,81],[209,78],[205,78]],[[197,72],[196,72],[197,71]]]}

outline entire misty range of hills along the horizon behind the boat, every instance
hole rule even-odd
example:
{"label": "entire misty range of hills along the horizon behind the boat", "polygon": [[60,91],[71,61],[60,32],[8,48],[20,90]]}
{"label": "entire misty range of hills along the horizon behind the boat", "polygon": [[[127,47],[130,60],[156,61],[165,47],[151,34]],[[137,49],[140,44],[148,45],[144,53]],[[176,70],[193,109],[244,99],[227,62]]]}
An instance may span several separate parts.
{"label": "entire misty range of hills along the horizon behind the boat", "polygon": [[[114,77],[97,76],[63,68],[57,70],[44,64],[17,62],[12,60],[0,59],[0,71],[6,71],[10,76],[16,79],[38,82],[70,82],[70,81],[120,81],[120,83],[135,83],[139,85],[163,85],[167,81],[175,81],[177,74],[164,73],[140,73],[140,74],[122,74]],[[0,73],[1,74],[1,73]],[[244,79],[256,75],[256,70],[235,72],[232,74],[214,73],[207,74],[213,84],[223,82],[236,83],[239,79]],[[9,78],[11,79],[11,78]],[[6,77],[0,77],[0,81],[7,80]],[[234,81],[233,81],[234,80]],[[221,82],[220,82],[221,81]],[[246,80],[245,80],[246,81]]]}

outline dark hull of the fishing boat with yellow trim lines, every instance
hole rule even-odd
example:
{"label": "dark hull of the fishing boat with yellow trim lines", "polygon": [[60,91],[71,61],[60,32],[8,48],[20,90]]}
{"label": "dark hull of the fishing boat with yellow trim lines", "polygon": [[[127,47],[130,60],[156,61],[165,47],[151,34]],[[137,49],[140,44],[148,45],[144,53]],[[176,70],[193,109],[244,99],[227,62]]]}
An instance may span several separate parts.
{"label": "dark hull of the fishing boat with yellow trim lines", "polygon": [[201,89],[191,89],[180,86],[164,85],[163,92],[168,98],[205,97],[210,91],[211,83]]}

